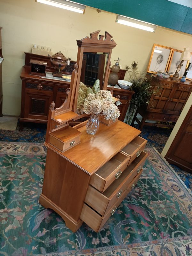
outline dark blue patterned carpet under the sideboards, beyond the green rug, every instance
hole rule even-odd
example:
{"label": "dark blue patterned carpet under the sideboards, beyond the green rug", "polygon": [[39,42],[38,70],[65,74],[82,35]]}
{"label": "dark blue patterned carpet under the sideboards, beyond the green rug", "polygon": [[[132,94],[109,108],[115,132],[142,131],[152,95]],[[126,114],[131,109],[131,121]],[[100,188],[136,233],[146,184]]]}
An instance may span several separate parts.
{"label": "dark blue patterned carpet under the sideboards, beyond the green rug", "polygon": [[[0,130],[0,141],[44,143],[46,127],[46,124],[25,123],[21,130],[18,122],[15,131]],[[139,126],[134,125],[134,127],[138,129]],[[144,126],[140,136],[148,140],[147,147],[155,147],[161,153],[171,132],[172,129]],[[192,190],[192,174],[183,171],[176,165],[171,164],[171,166],[187,188]]]}

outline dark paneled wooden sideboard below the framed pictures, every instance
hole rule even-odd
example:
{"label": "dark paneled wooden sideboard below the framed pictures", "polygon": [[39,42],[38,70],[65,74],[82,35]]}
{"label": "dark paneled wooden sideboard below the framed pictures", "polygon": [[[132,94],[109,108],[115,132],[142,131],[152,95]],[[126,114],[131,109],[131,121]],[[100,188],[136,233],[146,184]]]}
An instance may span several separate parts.
{"label": "dark paneled wooden sideboard below the framed pictures", "polygon": [[[138,108],[137,113],[142,116],[142,120],[139,121],[136,117],[137,113],[135,115],[139,128],[142,129],[144,125],[157,125],[146,120],[176,123],[192,91],[192,83],[189,80],[181,82],[154,75],[151,85],[161,89],[156,94],[152,94],[147,106]],[[165,126],[165,124],[158,124],[158,126]]]}

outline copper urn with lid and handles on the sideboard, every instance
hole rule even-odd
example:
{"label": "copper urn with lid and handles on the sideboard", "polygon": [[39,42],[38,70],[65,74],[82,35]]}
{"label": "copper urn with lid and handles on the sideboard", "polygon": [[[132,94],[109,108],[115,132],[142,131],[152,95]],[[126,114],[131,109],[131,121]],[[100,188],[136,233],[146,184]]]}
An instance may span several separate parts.
{"label": "copper urn with lid and handles on the sideboard", "polygon": [[51,61],[52,67],[54,69],[56,69],[56,72],[53,73],[53,77],[54,76],[58,76],[58,77],[63,76],[61,71],[63,69],[65,69],[65,67],[67,66],[67,61],[70,60],[70,58],[67,59],[63,55],[62,52],[56,52],[52,56],[48,54],[48,57],[50,57],[50,61]]}

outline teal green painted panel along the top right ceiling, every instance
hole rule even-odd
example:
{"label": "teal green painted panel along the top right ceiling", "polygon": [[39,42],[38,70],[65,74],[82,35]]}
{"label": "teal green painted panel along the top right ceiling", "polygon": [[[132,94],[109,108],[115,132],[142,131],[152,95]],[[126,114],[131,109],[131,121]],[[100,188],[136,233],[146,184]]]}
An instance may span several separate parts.
{"label": "teal green painted panel along the top right ceiling", "polygon": [[75,0],[75,2],[192,34],[192,8],[167,0]]}

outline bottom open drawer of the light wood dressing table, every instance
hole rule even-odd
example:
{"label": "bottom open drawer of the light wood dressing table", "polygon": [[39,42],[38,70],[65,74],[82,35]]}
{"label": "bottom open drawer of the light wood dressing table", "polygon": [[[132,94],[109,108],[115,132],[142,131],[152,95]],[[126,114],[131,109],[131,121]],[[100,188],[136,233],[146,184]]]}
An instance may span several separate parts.
{"label": "bottom open drawer of the light wood dressing table", "polygon": [[97,212],[95,212],[92,208],[90,208],[87,204],[83,205],[83,209],[81,212],[80,219],[83,220],[89,227],[91,227],[95,232],[98,232],[102,226],[107,222],[107,220],[115,213],[119,204],[123,201],[125,196],[135,187],[137,181],[140,178],[140,173],[132,180],[132,182],[125,188],[122,195],[118,198],[116,203],[109,209],[109,211],[104,215],[101,216]]}

